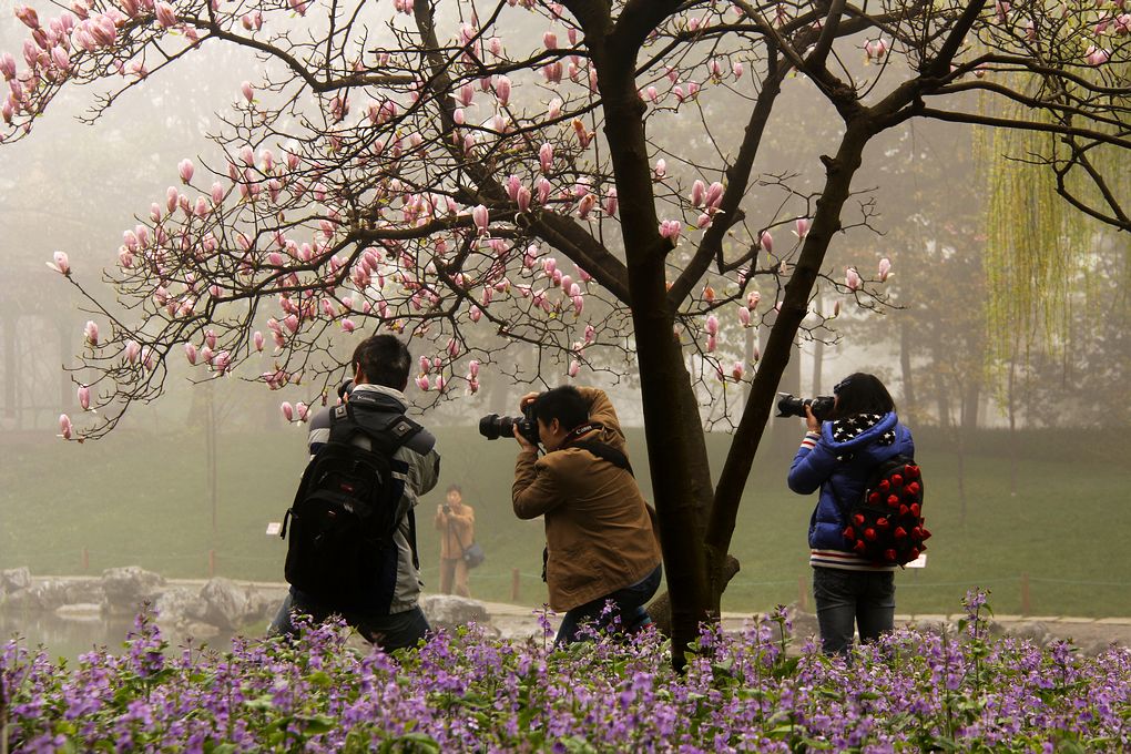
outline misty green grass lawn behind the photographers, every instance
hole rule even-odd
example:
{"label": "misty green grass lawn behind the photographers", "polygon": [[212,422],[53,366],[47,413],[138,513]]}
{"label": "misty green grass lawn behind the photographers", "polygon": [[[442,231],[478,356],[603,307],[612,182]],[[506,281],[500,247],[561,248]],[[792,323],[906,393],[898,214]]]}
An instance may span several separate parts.
{"label": "misty green grass lawn behind the photographers", "polygon": [[[477,539],[486,563],[472,577],[474,596],[510,600],[517,571],[518,601],[539,605],[541,521],[510,511],[515,444],[487,442],[474,427],[440,430],[443,456],[438,489],[423,501],[420,551],[428,588],[438,581],[438,535],[432,513],[451,483],[475,506]],[[798,432],[800,436],[800,432]],[[1024,435],[1018,488],[1010,492],[1009,440],[982,433],[965,460],[965,520],[959,461],[952,443],[917,433],[926,482],[925,514],[934,532],[923,570],[897,574],[898,612],[953,613],[972,587],[992,590],[999,613],[1021,612],[1022,578],[1029,612],[1131,616],[1131,534],[1125,449],[1097,451],[1096,433]],[[119,431],[78,445],[42,435],[5,440],[0,465],[0,567],[26,565],[37,574],[100,573],[137,564],[167,577],[279,581],[285,544],[265,534],[282,520],[304,462],[300,428],[222,434],[217,526],[205,478],[204,440]],[[728,437],[711,436],[714,471]],[[630,437],[641,473],[642,434]],[[808,598],[805,531],[815,496],[785,486],[788,451],[754,465],[732,552],[742,571],[724,596],[725,610],[761,610]],[[647,478],[641,478],[650,496]]]}

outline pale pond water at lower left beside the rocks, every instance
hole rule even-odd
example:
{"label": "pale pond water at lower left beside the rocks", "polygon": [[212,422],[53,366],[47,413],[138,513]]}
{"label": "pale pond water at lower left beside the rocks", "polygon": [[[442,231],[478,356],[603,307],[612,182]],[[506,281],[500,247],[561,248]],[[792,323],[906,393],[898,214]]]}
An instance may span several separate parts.
{"label": "pale pond water at lower left beside the rocks", "polygon": [[[124,651],[127,634],[133,629],[133,618],[113,617],[60,617],[54,613],[9,613],[0,608],[0,641],[7,642],[14,636],[23,639],[23,644],[29,650],[43,647],[52,660],[62,657],[74,662],[79,655],[92,649],[105,647],[111,653]],[[169,651],[178,651],[184,642],[184,635],[162,631],[162,636],[169,642]],[[226,650],[232,644],[231,633],[219,633],[201,641],[209,647]]]}

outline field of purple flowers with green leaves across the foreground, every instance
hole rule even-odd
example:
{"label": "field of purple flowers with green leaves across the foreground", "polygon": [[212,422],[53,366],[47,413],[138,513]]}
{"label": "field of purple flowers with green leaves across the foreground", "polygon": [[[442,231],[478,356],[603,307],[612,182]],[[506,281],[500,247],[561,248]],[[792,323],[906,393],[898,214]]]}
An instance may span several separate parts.
{"label": "field of purple flowers with green leaves across the foreground", "polygon": [[[1097,658],[985,635],[899,631],[851,662],[785,652],[784,612],[706,631],[685,674],[656,635],[554,651],[476,629],[388,656],[342,625],[293,643],[170,653],[150,615],[76,667],[3,645],[9,751],[994,751],[1131,747],[1131,651]],[[0,746],[2,748],[2,746]]]}

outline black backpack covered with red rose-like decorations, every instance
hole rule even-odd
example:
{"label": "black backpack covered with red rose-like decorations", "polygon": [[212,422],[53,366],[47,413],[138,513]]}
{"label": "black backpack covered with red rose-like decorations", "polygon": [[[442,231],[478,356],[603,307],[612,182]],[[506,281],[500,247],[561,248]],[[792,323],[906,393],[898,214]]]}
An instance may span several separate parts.
{"label": "black backpack covered with red rose-like decorations", "polygon": [[910,456],[879,466],[864,493],[848,509],[844,536],[854,553],[882,565],[905,565],[926,549],[923,474]]}

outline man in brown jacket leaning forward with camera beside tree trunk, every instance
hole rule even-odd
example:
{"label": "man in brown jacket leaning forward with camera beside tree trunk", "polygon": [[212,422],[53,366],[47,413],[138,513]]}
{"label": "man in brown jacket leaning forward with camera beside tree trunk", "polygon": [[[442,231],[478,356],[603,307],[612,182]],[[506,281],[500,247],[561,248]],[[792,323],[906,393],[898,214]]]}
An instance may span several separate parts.
{"label": "man in brown jacket leaning forward with camera beside tree trunk", "polygon": [[582,639],[587,622],[636,633],[651,622],[644,605],[659,588],[659,544],[616,411],[604,391],[570,385],[527,395],[528,405],[545,456],[516,427],[512,502],[518,518],[544,518],[550,606],[566,610],[555,641]]}

